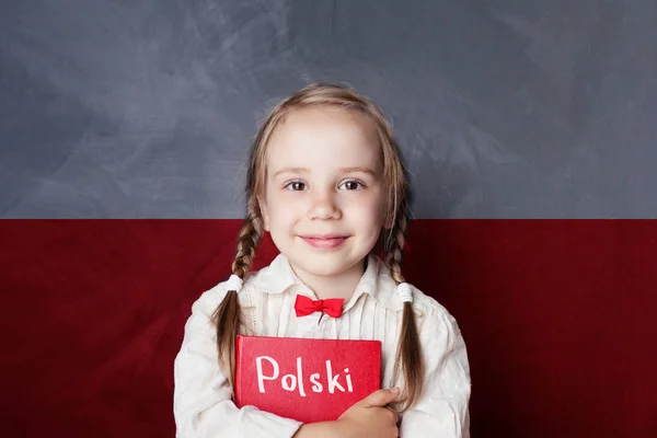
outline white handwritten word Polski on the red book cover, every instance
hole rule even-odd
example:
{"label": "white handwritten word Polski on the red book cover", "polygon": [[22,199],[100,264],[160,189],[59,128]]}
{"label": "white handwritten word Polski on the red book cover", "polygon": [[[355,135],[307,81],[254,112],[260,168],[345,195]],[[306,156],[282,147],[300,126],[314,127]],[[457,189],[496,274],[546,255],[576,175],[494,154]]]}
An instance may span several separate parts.
{"label": "white handwritten word Polski on the red book cover", "polygon": [[[265,376],[263,372],[263,360],[268,361],[272,365],[273,371],[272,376]],[[255,367],[257,370],[257,389],[264,394],[265,393],[265,381],[267,380],[277,380],[280,369],[278,367],[278,362],[276,359],[269,356],[258,356],[255,358]],[[312,383],[312,392],[321,393],[324,391],[324,387],[320,382],[321,374],[319,372],[310,374],[310,383]],[[326,387],[328,389],[328,393],[333,394],[337,392],[354,392],[354,387],[351,385],[351,376],[349,374],[349,369],[345,368],[345,380],[347,384],[347,390],[339,384],[339,374],[333,374],[333,369],[331,367],[331,360],[326,360]],[[303,388],[303,368],[301,358],[297,358],[297,374],[285,374],[280,378],[280,387],[286,391],[295,391],[298,390],[301,396],[306,396],[306,391]]]}

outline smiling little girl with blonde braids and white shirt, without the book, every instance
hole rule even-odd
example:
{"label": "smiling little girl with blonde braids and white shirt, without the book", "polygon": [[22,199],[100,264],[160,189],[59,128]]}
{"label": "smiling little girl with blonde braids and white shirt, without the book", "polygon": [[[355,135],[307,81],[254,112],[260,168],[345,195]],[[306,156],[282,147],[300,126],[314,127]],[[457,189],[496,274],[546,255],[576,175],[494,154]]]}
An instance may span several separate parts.
{"label": "smiling little girl with blonde braids and white shirt, without the book", "polygon": [[[175,359],[177,437],[469,437],[457,322],[402,276],[407,182],[381,111],[337,85],[292,94],[255,139],[246,196],[233,275],[194,303]],[[280,254],[250,273],[265,231]],[[344,301],[297,315],[297,296]],[[384,389],[334,422],[238,408],[238,334],[379,339]]]}

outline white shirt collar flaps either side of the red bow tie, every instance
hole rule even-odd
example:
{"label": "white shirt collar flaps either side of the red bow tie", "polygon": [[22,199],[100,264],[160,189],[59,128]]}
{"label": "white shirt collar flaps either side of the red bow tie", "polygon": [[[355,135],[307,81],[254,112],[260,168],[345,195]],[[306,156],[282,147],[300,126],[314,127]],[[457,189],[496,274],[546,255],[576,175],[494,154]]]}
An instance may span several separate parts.
{"label": "white shirt collar flaps either side of the red bow tie", "polygon": [[[261,269],[256,276],[256,289],[265,293],[283,293],[290,286],[299,284],[289,260],[278,254],[274,261]],[[377,255],[368,255],[367,269],[360,277],[354,296],[345,306],[347,311],[362,293],[369,295],[380,306],[387,309],[401,311],[404,309],[402,300],[396,295],[396,284],[390,275],[390,269]]]}

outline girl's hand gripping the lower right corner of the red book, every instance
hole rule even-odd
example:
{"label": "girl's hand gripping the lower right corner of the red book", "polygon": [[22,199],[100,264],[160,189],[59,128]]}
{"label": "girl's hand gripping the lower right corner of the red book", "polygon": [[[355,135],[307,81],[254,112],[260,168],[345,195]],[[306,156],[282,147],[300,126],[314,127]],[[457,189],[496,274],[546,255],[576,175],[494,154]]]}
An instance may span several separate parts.
{"label": "girl's hand gripping the lower right corner of the red book", "polygon": [[378,390],[354,404],[336,420],[341,437],[396,438],[399,414],[384,407],[400,394],[397,388]]}

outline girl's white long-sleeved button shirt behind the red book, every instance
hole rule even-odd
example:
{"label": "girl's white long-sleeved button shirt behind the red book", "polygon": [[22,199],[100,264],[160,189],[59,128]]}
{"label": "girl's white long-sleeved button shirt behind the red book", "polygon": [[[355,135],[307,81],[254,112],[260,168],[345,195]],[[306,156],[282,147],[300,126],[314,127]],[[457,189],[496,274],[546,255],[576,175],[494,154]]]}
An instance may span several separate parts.
{"label": "girl's white long-sleeved button shirt behind the red book", "polygon": [[[403,302],[385,264],[370,255],[368,266],[338,319],[320,312],[297,318],[296,296],[316,299],[279,254],[269,266],[246,278],[239,295],[244,312],[242,334],[328,339],[381,341],[383,387],[391,388]],[[176,437],[291,437],[301,423],[260,411],[238,408],[219,369],[211,316],[226,283],[204,292],[192,307],[174,364]],[[470,368],[456,320],[436,300],[413,288],[413,308],[426,364],[418,403],[403,414],[401,437],[469,438]],[[318,324],[319,322],[319,324]],[[397,383],[399,385],[399,383]]]}

